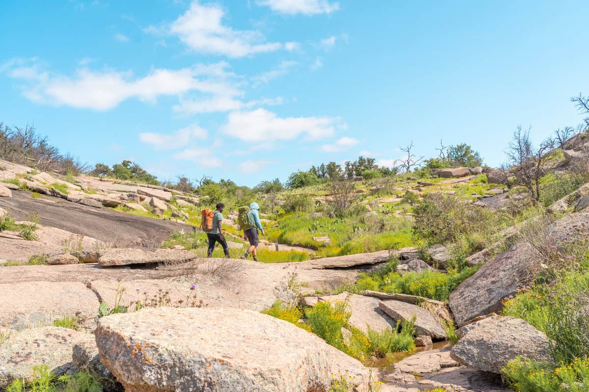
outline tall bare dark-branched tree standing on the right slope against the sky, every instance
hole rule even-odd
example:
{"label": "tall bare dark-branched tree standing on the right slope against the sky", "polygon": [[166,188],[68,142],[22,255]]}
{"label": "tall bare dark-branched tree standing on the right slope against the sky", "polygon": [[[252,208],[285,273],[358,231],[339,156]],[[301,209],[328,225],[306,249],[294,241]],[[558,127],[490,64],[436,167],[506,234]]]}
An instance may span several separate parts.
{"label": "tall bare dark-branched tree standing on the right slope against the sky", "polygon": [[517,185],[524,186],[530,193],[534,204],[540,201],[540,184],[542,177],[554,169],[554,160],[548,154],[554,149],[554,139],[548,138],[534,148],[530,140],[530,130],[521,126],[515,130],[507,154],[507,173]]}

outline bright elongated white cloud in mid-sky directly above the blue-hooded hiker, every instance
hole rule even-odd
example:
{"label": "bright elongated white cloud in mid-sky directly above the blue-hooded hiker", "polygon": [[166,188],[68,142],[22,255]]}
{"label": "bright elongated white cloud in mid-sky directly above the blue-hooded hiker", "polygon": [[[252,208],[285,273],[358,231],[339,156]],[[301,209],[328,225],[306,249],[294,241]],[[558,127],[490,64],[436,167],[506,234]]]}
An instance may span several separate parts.
{"label": "bright elongated white cloud in mid-sky directly above the blue-hooded hiker", "polygon": [[335,134],[341,120],[329,117],[280,118],[266,109],[232,112],[222,132],[246,142],[276,142],[305,135],[307,139],[321,139]]}

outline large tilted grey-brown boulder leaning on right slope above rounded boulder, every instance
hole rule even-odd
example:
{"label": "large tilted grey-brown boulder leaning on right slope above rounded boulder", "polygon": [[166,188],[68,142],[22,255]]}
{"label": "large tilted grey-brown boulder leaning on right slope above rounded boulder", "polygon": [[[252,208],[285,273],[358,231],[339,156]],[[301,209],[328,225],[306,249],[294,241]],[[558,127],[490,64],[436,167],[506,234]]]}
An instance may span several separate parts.
{"label": "large tilted grey-brown boulder leaning on right slope above rounded boulder", "polygon": [[456,324],[503,309],[501,300],[535,278],[540,260],[541,254],[530,244],[515,244],[485,263],[450,294]]}

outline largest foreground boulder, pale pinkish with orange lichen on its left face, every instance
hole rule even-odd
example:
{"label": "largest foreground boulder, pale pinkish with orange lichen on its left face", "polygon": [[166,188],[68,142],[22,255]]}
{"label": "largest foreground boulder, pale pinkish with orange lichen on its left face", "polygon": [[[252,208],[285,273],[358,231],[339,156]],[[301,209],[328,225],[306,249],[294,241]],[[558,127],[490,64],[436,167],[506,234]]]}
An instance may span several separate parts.
{"label": "largest foreground boulder, pale pinkish with orange lichen on its left face", "polygon": [[326,391],[338,372],[359,391],[369,381],[367,368],[319,337],[250,310],[114,314],[95,336],[102,363],[127,391]]}

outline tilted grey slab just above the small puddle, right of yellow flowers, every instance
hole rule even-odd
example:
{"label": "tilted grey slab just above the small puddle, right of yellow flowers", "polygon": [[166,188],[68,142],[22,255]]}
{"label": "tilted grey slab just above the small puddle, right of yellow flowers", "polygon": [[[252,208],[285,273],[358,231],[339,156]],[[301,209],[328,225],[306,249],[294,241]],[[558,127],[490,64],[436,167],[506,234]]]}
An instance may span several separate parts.
{"label": "tilted grey slab just above the small puddle, right of yellow flowers", "polygon": [[412,305],[406,302],[386,300],[379,304],[382,311],[392,317],[393,320],[411,320],[413,315],[415,319],[415,334],[427,335],[433,339],[446,339],[446,331],[436,318],[429,311],[422,307]]}

